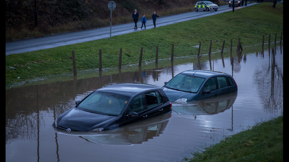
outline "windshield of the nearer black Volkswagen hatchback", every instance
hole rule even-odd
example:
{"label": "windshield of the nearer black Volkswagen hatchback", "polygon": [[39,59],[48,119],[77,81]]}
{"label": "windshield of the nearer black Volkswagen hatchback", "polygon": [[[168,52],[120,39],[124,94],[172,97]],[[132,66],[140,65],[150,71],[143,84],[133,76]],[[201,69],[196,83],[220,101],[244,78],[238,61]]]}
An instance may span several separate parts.
{"label": "windshield of the nearer black Volkswagen hatchback", "polygon": [[77,108],[101,115],[119,115],[128,100],[127,96],[94,91],[79,103]]}

